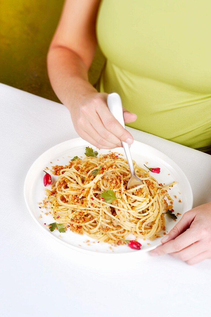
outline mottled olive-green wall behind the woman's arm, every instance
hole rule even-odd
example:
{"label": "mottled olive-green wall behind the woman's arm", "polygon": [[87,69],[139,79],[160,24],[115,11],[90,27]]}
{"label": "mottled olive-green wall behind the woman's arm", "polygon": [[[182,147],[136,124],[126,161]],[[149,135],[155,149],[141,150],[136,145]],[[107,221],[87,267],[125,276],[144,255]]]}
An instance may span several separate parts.
{"label": "mottled olive-green wall behind the woman's arm", "polygon": [[[46,55],[63,2],[0,0],[0,82],[58,101],[49,83]],[[103,63],[97,48],[89,70],[92,84]]]}

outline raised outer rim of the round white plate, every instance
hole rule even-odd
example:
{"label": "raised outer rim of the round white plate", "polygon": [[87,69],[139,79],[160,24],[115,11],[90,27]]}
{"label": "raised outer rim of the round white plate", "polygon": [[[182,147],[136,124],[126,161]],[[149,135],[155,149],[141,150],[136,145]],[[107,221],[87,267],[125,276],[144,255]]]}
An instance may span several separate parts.
{"label": "raised outer rim of the round white plate", "polygon": [[[112,255],[112,256],[114,256],[114,255],[115,255],[115,256],[116,256],[116,255],[118,255],[118,256],[127,256],[128,254],[130,254],[130,255],[131,255],[131,254],[136,254],[136,253],[138,253],[138,254],[143,254],[143,253],[146,253],[146,252],[148,252],[148,251],[151,251],[151,250],[157,248],[159,245],[161,245],[162,243],[159,242],[157,245],[151,246],[151,247],[149,247],[148,249],[141,249],[141,250],[140,250],[141,252],[136,252],[136,251],[134,251],[134,252],[129,252],[129,253],[128,253],[128,252],[122,252],[122,253],[115,253],[115,252],[106,253],[106,252],[103,252],[103,251],[100,251],[100,250],[96,252],[95,250],[81,249],[81,248],[79,248],[79,247],[76,247],[76,246],[74,246],[74,245],[71,245],[71,244],[69,244],[69,243],[63,241],[62,239],[59,239],[57,236],[54,236],[53,234],[51,234],[50,231],[46,230],[46,229],[42,226],[42,224],[36,219],[35,215],[34,215],[33,212],[30,210],[30,206],[29,206],[29,204],[28,204],[28,200],[27,200],[27,182],[28,182],[28,178],[29,178],[30,172],[31,172],[31,170],[33,169],[34,165],[36,165],[36,162],[37,162],[40,158],[42,158],[42,156],[45,156],[45,154],[46,154],[48,151],[52,151],[52,150],[55,149],[56,147],[62,146],[62,145],[64,145],[65,143],[69,143],[69,142],[78,142],[78,146],[85,146],[85,145],[90,146],[90,145],[91,145],[88,141],[86,141],[86,140],[84,140],[84,139],[82,139],[82,138],[80,138],[80,137],[79,137],[79,138],[74,138],[74,139],[69,139],[69,140],[63,141],[63,142],[61,142],[61,143],[58,143],[58,144],[56,144],[56,145],[50,147],[49,149],[47,149],[47,150],[46,150],[45,152],[43,152],[41,155],[39,155],[39,156],[36,158],[36,160],[32,163],[32,165],[30,166],[29,170],[27,171],[27,174],[26,174],[26,177],[25,177],[25,180],[24,180],[24,185],[23,185],[23,196],[24,196],[24,200],[25,200],[26,207],[27,207],[27,209],[28,209],[28,211],[29,211],[31,217],[32,217],[32,218],[34,219],[34,221],[37,223],[37,225],[38,225],[40,228],[42,228],[42,230],[44,230],[50,237],[54,238],[57,242],[62,243],[63,245],[67,246],[69,249],[73,249],[73,250],[78,251],[78,252],[81,252],[81,253],[87,253],[87,254],[92,254],[92,255],[101,255],[101,256],[102,256],[102,255],[104,255],[104,256],[108,256],[108,255],[109,255],[109,256],[111,256],[111,255]],[[159,154],[162,154],[162,156],[163,156],[164,158],[167,158],[167,160],[170,160],[171,163],[173,163],[173,165],[176,166],[177,172],[179,171],[179,173],[186,179],[186,183],[187,183],[187,185],[188,185],[189,194],[190,194],[190,197],[189,197],[189,198],[190,198],[190,201],[188,201],[188,206],[190,206],[190,209],[192,209],[192,208],[193,208],[193,191],[192,191],[190,182],[189,182],[187,176],[185,175],[185,173],[182,171],[182,169],[181,169],[171,158],[169,158],[165,153],[161,152],[160,150],[157,150],[155,147],[150,146],[150,145],[148,145],[148,144],[146,144],[146,143],[143,143],[143,142],[134,140],[134,143],[133,143],[133,144],[136,144],[136,143],[137,143],[137,144],[144,145],[144,146],[147,146],[148,148],[155,150],[155,151],[158,152]],[[93,145],[91,145],[91,146],[93,146]],[[112,149],[112,150],[115,150],[115,149]],[[109,149],[108,149],[108,151],[109,151]],[[162,159],[163,159],[163,158],[162,158]],[[164,159],[164,160],[165,160],[165,159]],[[168,164],[169,164],[169,163],[168,163]],[[172,166],[172,165],[171,165],[171,166]],[[175,169],[175,166],[172,166],[172,167]],[[190,209],[188,209],[188,210],[190,210]]]}

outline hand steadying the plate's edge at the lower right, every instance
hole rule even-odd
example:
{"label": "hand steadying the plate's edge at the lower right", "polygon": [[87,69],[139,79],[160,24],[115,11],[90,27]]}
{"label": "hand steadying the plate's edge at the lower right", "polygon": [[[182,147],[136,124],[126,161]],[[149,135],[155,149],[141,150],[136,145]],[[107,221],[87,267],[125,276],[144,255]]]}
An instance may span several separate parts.
{"label": "hand steadying the plate's edge at the lower right", "polygon": [[191,265],[211,258],[211,202],[187,211],[161,242],[152,256],[169,253]]}

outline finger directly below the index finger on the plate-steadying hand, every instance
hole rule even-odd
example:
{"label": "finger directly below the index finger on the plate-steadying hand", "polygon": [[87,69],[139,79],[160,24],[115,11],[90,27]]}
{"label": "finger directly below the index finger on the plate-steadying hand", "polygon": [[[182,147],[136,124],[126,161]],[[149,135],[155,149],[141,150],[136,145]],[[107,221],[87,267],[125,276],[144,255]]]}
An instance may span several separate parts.
{"label": "finger directly below the index finger on the plate-steadying hand", "polygon": [[203,242],[197,241],[179,252],[171,253],[171,256],[187,262],[191,258],[199,255],[201,252],[206,251],[206,249],[207,246]]}

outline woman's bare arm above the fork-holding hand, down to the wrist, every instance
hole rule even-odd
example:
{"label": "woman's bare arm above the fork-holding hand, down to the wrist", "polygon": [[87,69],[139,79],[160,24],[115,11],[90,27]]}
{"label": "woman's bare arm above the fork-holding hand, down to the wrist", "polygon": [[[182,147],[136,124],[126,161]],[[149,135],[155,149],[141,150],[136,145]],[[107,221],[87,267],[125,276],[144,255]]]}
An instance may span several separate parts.
{"label": "woman's bare arm above the fork-holding hand, down to the wrist", "polygon": [[96,92],[88,82],[88,69],[97,45],[95,23],[99,2],[67,0],[64,4],[47,59],[52,87],[64,104],[74,100],[81,86],[85,91]]}

